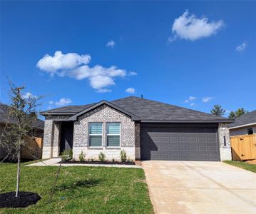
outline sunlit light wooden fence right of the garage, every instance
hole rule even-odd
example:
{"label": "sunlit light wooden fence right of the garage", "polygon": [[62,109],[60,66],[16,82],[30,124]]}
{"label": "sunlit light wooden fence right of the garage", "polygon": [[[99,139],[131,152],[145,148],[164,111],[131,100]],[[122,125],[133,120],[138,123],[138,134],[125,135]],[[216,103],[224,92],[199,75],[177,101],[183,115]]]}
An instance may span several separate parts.
{"label": "sunlit light wooden fence right of the garage", "polygon": [[256,159],[256,134],[230,137],[232,160],[247,161]]}

